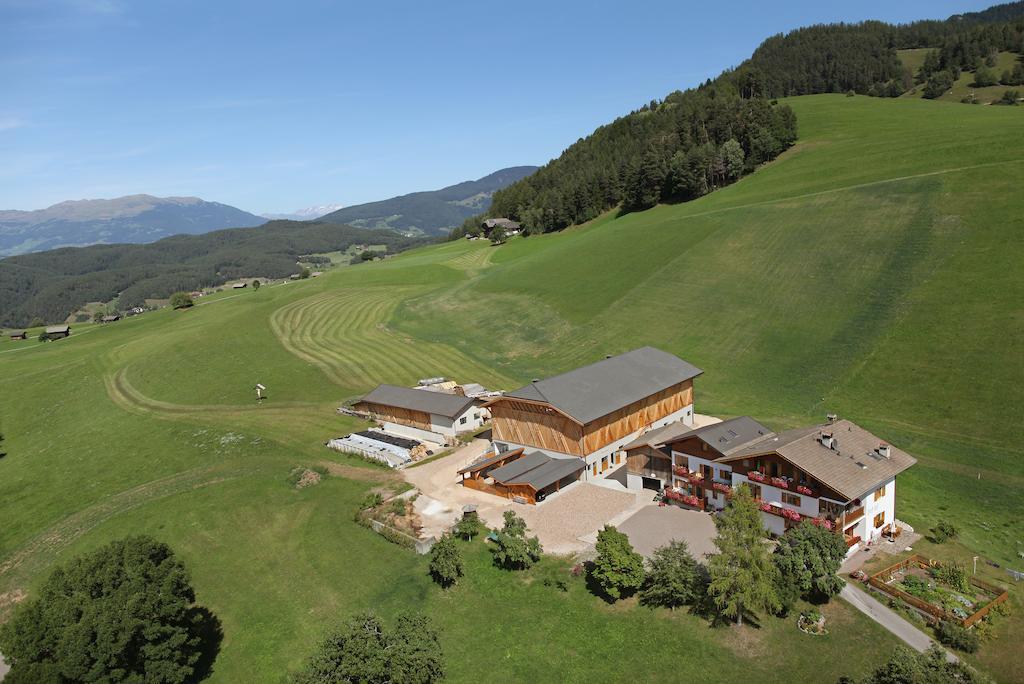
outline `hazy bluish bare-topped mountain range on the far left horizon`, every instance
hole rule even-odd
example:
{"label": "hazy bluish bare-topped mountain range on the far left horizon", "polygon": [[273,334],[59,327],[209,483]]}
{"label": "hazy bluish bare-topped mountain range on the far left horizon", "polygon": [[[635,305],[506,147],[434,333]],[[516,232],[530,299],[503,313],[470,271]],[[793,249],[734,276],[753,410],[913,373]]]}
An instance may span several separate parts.
{"label": "hazy bluish bare-topped mountain range on the far left horizon", "polygon": [[174,234],[262,225],[266,220],[199,198],[130,195],[75,200],[37,211],[0,211],[0,257],[57,247],[152,243]]}

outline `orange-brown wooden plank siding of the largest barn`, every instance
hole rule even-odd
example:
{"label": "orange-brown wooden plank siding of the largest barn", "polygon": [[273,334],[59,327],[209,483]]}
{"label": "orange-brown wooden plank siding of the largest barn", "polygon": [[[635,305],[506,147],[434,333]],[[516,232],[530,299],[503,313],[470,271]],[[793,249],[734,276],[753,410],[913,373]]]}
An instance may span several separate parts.
{"label": "orange-brown wooden plank siding of the largest barn", "polygon": [[580,425],[552,407],[513,398],[489,405],[494,439],[585,457],[693,403],[693,381],[677,385]]}

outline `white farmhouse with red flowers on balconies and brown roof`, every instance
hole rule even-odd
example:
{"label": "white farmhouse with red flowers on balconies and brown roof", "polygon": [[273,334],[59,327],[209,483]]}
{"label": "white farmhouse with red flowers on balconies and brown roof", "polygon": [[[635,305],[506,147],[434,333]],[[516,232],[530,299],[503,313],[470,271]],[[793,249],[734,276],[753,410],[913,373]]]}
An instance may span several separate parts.
{"label": "white farmhouse with red flowers on balconies and brown roof", "polygon": [[848,420],[775,434],[744,417],[673,435],[660,446],[671,456],[670,499],[717,510],[746,484],[771,532],[808,518],[842,529],[850,553],[899,533],[896,476],[916,463]]}

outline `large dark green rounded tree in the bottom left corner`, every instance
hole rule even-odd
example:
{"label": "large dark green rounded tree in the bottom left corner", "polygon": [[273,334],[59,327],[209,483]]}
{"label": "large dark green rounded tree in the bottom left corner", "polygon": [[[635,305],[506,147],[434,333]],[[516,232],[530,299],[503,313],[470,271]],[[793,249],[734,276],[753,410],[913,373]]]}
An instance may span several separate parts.
{"label": "large dark green rounded tree in the bottom left corner", "polygon": [[209,614],[195,600],[167,545],[112,542],[53,570],[0,628],[9,681],[190,681]]}

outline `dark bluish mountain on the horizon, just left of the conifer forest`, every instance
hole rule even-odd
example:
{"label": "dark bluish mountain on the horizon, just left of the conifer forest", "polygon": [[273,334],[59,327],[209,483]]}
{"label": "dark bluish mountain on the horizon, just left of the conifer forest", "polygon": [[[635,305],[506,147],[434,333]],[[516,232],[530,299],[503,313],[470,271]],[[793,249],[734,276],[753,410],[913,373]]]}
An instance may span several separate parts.
{"label": "dark bluish mountain on the horizon, just left of the conifer forest", "polygon": [[390,228],[407,236],[440,236],[490,207],[500,190],[537,171],[536,166],[513,166],[477,180],[467,180],[439,190],[412,193],[345,207],[319,218],[360,228]]}

